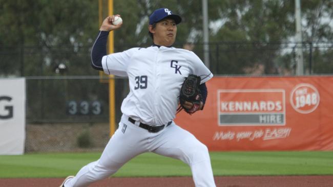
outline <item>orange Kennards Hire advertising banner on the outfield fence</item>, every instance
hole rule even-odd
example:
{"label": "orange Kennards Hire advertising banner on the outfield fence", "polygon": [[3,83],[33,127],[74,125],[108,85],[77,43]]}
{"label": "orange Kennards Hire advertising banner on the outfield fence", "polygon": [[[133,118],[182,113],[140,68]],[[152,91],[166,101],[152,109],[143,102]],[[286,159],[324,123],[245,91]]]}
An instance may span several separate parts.
{"label": "orange Kennards Hire advertising banner on the outfield fence", "polygon": [[333,150],[333,76],[214,77],[175,122],[211,151]]}

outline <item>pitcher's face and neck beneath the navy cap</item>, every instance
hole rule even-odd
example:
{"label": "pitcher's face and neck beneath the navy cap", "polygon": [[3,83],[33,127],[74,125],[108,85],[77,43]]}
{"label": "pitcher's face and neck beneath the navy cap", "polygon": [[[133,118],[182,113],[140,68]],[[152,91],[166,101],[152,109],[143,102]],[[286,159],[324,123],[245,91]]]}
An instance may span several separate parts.
{"label": "pitcher's face and neck beneath the navy cap", "polygon": [[163,19],[157,22],[155,29],[151,30],[154,34],[154,43],[162,46],[171,46],[176,39],[177,25],[173,19]]}

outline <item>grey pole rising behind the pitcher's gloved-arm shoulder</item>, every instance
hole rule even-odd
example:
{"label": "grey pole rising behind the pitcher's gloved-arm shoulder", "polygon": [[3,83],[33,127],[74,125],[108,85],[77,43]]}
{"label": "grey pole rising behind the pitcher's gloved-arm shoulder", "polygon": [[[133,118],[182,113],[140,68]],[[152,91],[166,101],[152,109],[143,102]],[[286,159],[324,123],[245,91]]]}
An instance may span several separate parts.
{"label": "grey pole rising behind the pitcher's gloved-arm shoulder", "polygon": [[202,26],[203,26],[203,57],[206,67],[210,67],[209,49],[209,22],[207,0],[202,0]]}

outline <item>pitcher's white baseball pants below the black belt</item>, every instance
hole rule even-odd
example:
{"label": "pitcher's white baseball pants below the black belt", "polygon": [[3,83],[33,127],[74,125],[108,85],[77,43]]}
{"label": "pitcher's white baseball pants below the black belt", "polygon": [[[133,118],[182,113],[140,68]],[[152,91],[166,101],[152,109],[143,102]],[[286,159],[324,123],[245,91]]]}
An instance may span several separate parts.
{"label": "pitcher's white baseball pants below the black belt", "polygon": [[83,167],[65,186],[88,186],[109,177],[133,157],[153,152],[177,158],[191,167],[193,180],[197,187],[216,186],[208,149],[193,134],[180,128],[174,122],[163,130],[152,133],[128,121],[122,115],[119,127],[111,137],[97,161]]}

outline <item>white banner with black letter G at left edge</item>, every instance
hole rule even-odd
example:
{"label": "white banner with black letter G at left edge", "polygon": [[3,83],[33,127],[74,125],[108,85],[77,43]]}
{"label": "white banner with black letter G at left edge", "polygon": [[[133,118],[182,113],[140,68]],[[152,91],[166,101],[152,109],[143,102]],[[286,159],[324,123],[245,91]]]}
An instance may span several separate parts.
{"label": "white banner with black letter G at left edge", "polygon": [[0,79],[0,155],[24,154],[26,80]]}

